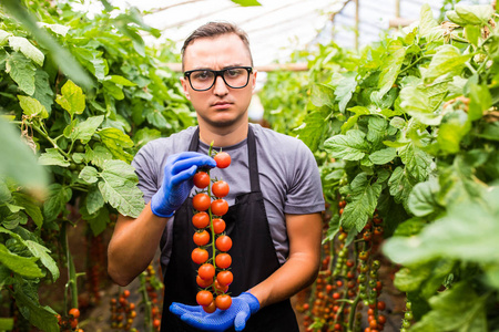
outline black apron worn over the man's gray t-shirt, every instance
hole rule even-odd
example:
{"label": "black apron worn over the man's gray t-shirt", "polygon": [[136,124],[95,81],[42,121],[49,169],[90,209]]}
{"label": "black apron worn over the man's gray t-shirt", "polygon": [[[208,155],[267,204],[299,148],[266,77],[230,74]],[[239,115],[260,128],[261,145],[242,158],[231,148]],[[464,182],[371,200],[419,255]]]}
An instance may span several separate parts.
{"label": "black apron worn over the man's gray t-shirt", "polygon": [[[198,146],[198,128],[191,141],[190,151],[196,152]],[[232,297],[268,278],[281,267],[271,237],[265,212],[264,200],[259,189],[258,166],[256,160],[256,143],[253,129],[248,128],[247,152],[249,165],[251,193],[236,197],[235,204],[223,216],[226,222],[225,232],[233,240],[228,251],[232,257],[231,271],[234,281],[228,287]],[[191,259],[196,247],[192,240],[195,228],[192,225],[192,198],[185,200],[175,212],[173,224],[173,248],[164,273],[164,303],[161,332],[200,332],[170,312],[172,302],[197,305],[198,286],[195,281],[198,266]],[[163,248],[164,241],[161,242]],[[211,255],[211,253],[210,253]],[[234,328],[227,331],[234,331]],[[298,332],[298,324],[289,300],[262,308],[249,318],[244,332]]]}

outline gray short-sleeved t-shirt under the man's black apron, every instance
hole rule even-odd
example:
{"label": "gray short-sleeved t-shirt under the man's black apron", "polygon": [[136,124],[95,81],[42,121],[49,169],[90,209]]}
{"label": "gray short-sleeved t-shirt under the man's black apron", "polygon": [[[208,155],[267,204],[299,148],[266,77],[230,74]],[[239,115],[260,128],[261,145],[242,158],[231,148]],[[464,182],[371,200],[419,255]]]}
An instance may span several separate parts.
{"label": "gray short-sleeved t-shirt under the man's black apron", "polygon": [[[320,177],[314,155],[302,141],[257,124],[249,125],[255,133],[259,185],[271,236],[277,258],[284,263],[289,251],[285,214],[304,215],[324,210]],[[139,176],[139,188],[144,193],[145,203],[161,187],[167,156],[187,151],[195,129],[196,127],[189,127],[170,137],[154,139],[135,155],[132,165]],[[214,151],[220,148],[214,147]],[[246,139],[223,147],[222,151],[231,155],[231,166],[224,169],[213,168],[210,176],[228,184],[230,193],[225,199],[228,205],[233,205],[237,195],[249,191]],[[200,141],[197,152],[207,154],[208,145]],[[195,188],[193,193],[194,190]],[[166,245],[162,248],[161,261],[165,266],[170,261],[172,227],[173,222],[169,222]]]}

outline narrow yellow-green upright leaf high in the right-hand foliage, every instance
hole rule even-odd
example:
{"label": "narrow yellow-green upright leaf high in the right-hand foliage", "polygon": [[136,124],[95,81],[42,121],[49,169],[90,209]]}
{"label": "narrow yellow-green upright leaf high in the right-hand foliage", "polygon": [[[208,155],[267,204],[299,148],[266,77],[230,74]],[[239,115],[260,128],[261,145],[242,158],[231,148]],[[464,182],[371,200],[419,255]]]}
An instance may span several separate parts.
{"label": "narrow yellow-green upright leaf high in the right-hand foliage", "polygon": [[398,77],[398,73],[400,72],[404,59],[406,58],[406,49],[399,40],[390,41],[387,51],[388,54],[386,58],[386,63],[381,68],[381,73],[378,81],[379,98],[383,97],[394,85]]}

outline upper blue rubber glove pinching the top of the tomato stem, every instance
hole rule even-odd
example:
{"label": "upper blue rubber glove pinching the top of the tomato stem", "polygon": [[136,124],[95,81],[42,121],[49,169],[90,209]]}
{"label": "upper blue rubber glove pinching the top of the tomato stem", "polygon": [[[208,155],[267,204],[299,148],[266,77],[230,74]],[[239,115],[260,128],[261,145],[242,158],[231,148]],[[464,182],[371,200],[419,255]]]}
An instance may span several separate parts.
{"label": "upper blue rubber glove pinching the top of the tomato stem", "polygon": [[184,152],[169,156],[164,165],[161,188],[151,198],[151,210],[159,217],[172,217],[191,193],[193,176],[197,167],[216,167],[216,162],[196,152]]}

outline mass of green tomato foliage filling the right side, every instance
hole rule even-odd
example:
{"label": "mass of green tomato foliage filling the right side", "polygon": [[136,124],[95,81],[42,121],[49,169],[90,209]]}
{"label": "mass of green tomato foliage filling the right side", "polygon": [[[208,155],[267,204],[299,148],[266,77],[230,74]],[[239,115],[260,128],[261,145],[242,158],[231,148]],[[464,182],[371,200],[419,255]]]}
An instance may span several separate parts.
{"label": "mass of green tomato foliage filling the right side", "polygon": [[308,104],[288,118],[303,123],[277,128],[315,152],[326,199],[347,201],[325,241],[342,227],[353,246],[383,217],[384,252],[403,267],[395,284],[418,321],[410,331],[497,330],[498,14],[491,6],[445,13],[438,23],[424,6],[418,22],[359,54],[323,49],[302,85]]}

